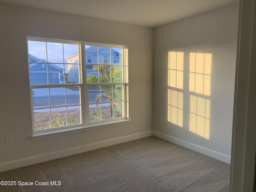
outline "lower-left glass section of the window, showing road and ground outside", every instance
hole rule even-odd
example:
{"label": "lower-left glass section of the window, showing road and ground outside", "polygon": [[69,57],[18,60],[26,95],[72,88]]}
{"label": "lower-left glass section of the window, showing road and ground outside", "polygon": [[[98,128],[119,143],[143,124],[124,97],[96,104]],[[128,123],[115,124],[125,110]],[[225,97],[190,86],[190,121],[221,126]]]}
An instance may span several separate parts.
{"label": "lower-left glass section of the window, showing road and ground outside", "polygon": [[81,124],[79,86],[32,88],[32,94],[35,130]]}

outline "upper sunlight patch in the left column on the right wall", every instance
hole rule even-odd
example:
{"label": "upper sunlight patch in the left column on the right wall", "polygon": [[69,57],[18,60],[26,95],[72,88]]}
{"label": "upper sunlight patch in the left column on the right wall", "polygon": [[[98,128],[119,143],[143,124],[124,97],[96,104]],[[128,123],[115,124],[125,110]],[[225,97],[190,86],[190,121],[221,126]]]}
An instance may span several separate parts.
{"label": "upper sunlight patch in the left column on the right wall", "polygon": [[169,52],[168,86],[183,89],[184,52]]}

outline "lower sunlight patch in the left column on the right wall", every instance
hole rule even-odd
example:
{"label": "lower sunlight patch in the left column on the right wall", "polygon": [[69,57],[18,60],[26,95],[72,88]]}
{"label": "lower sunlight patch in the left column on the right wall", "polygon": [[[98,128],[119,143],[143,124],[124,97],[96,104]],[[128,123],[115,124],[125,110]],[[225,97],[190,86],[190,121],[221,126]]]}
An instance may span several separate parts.
{"label": "lower sunlight patch in the left column on the right wall", "polygon": [[183,93],[168,89],[168,121],[183,126]]}

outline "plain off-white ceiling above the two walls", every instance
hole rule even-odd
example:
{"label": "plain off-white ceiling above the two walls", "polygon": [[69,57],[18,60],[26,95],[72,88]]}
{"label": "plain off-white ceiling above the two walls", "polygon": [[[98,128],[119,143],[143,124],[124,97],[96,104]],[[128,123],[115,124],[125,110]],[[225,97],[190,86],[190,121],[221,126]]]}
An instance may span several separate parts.
{"label": "plain off-white ceiling above the two walls", "polygon": [[157,27],[239,0],[0,0],[2,3]]}

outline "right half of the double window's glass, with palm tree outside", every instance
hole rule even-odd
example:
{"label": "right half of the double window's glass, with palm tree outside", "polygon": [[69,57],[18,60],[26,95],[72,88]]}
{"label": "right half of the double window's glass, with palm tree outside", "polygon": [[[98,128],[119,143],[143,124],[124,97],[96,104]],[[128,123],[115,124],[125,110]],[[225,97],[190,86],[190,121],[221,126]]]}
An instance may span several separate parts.
{"label": "right half of the double window's glass, with palm tree outside", "polygon": [[88,89],[95,90],[88,98],[89,122],[124,117],[122,49],[86,45],[85,54],[91,53],[99,62],[86,64]]}

